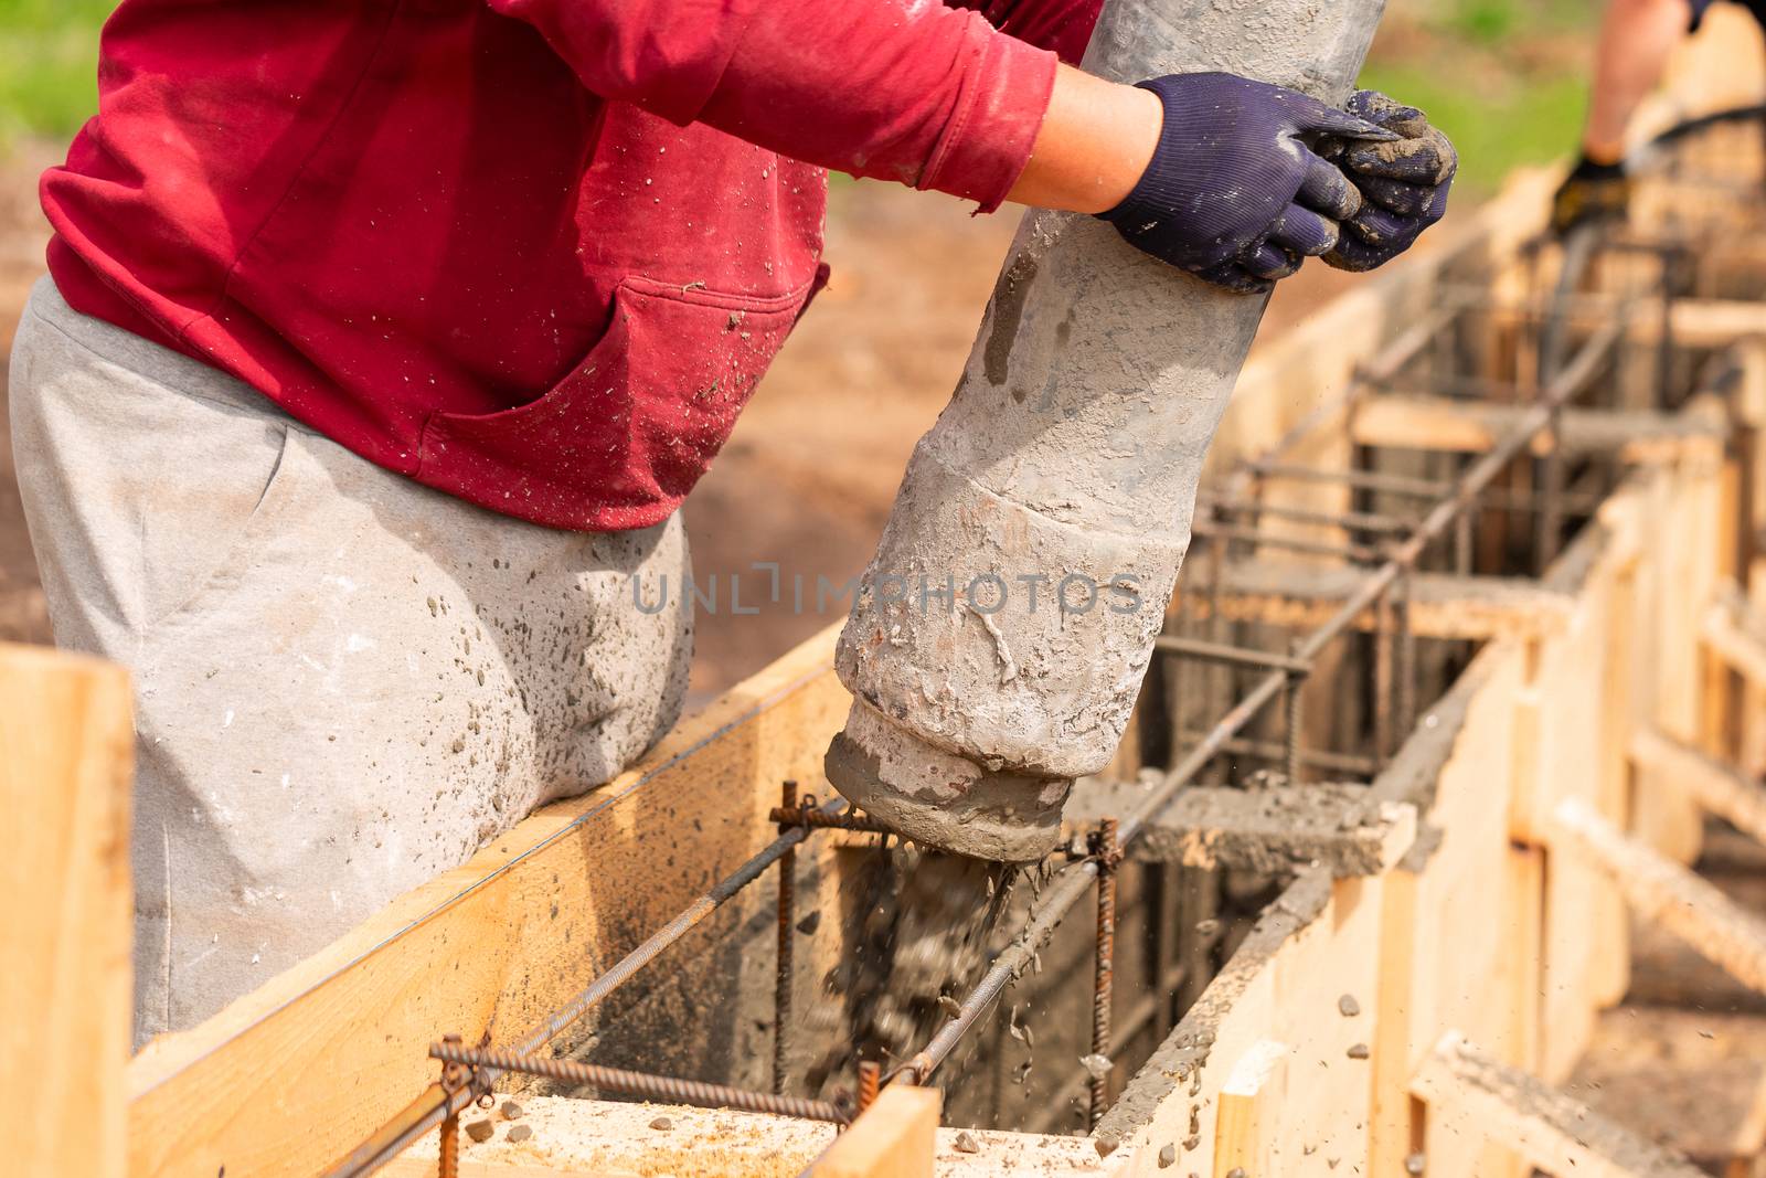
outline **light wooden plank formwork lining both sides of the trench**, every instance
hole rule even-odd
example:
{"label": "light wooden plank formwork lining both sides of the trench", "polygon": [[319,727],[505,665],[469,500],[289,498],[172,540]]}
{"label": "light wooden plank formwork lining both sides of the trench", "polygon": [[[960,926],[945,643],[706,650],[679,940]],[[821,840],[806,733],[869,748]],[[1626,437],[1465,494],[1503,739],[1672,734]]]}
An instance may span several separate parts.
{"label": "light wooden plank formwork lining both sides of the trench", "polygon": [[[1376,401],[1367,410],[1340,394],[1453,276],[1468,267],[1499,276],[1540,230],[1549,191],[1547,175],[1519,177],[1452,242],[1264,348],[1211,452],[1217,477],[1284,436],[1298,436],[1289,452],[1314,464],[1347,464],[1356,445],[1400,429],[1411,449],[1482,445],[1499,424],[1468,424],[1443,406],[1399,413]],[[1626,456],[1619,489],[1542,581],[1443,578],[1432,599],[1418,599],[1429,602],[1418,609],[1425,632],[1434,625],[1480,643],[1370,786],[1376,800],[1416,807],[1418,819],[1367,874],[1302,867],[1127,1079],[1091,1139],[977,1132],[959,1148],[950,1130],[932,1134],[934,1097],[894,1086],[832,1148],[826,1129],[692,1111],[671,1116],[703,1136],[660,1141],[630,1120],[630,1106],[540,1099],[535,1107],[574,1127],[574,1137],[560,1129],[546,1148],[496,1144],[468,1155],[463,1173],[1169,1169],[1254,1178],[1400,1174],[1418,1155],[1434,1178],[1531,1167],[1658,1173],[1655,1155],[1623,1130],[1577,1132],[1565,1121],[1574,1113],[1543,1090],[1531,1104],[1515,1093],[1563,1081],[1598,1012],[1625,991],[1626,865],[1658,872],[1630,871],[1630,888],[1660,878],[1660,892],[1679,883],[1672,872],[1697,851],[1706,811],[1727,805],[1743,821],[1761,812],[1748,809],[1761,807],[1757,784],[1713,758],[1757,772],[1766,749],[1766,680],[1750,664],[1762,645],[1745,632],[1745,611],[1724,606],[1766,593],[1736,542],[1741,519],[1766,519],[1766,463],[1747,449],[1766,427],[1766,343],[1754,339],[1766,321],[1757,307],[1732,304],[1678,314],[1678,332],[1727,348],[1741,392],[1727,406],[1695,399],[1657,422],[1651,436],[1662,445]],[[1296,505],[1347,507],[1340,491],[1287,495]],[[1323,579],[1238,586],[1220,608],[1291,622],[1328,597]],[[1725,585],[1736,586],[1727,597]],[[117,858],[127,825],[124,692],[108,671],[5,652],[0,682],[12,706],[0,708],[11,724],[0,729],[0,798],[14,814],[32,812],[44,782],[65,781],[57,805],[97,816],[81,823],[85,844],[44,841],[7,860],[14,894],[41,892],[46,872],[69,880],[62,910],[37,913],[53,920],[26,929],[30,959],[46,968],[5,975],[7,1008],[65,1014],[78,998],[90,1012],[32,1024],[34,1037],[4,1053],[9,1069],[26,1058],[81,1063],[78,1081],[65,1067],[7,1072],[0,1116],[28,1123],[7,1130],[37,1150],[26,1173],[307,1174],[336,1162],[434,1079],[429,1042],[517,1037],[770,841],[781,781],[826,793],[821,754],[848,708],[830,669],[834,634],[685,721],[618,781],[540,811],[464,867],[127,1063],[125,994],[115,980],[129,904]],[[72,714],[78,724],[65,721]],[[835,842],[802,855],[805,902],[834,902]],[[761,1086],[772,1028],[749,998],[772,996],[772,961],[752,952],[770,901],[759,885],[706,920],[666,963],[668,993],[592,1024],[602,1046],[618,1053],[630,1040],[636,1058],[660,1023],[692,1023],[666,1070]],[[67,929],[87,920],[102,934],[74,950]],[[816,996],[809,978],[842,952],[837,925],[805,933],[804,1001]],[[1717,918],[1694,936],[1743,970],[1761,950],[1745,920]],[[79,954],[99,954],[108,968]],[[712,989],[735,998],[692,1000]],[[25,1030],[16,1017],[5,1026]],[[46,1123],[69,1129],[49,1134]],[[579,1143],[576,1155],[567,1137]],[[712,1148],[713,1139],[728,1148]],[[406,1159],[396,1173],[431,1167]]]}

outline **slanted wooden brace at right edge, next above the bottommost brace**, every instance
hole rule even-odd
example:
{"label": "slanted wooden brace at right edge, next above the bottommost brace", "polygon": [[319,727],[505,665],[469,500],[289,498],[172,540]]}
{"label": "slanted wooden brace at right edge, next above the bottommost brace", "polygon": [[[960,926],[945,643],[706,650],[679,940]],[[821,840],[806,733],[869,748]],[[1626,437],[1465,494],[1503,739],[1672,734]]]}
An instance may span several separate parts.
{"label": "slanted wooden brace at right edge, next above the bottommost brace", "polygon": [[1671,858],[1619,834],[1577,798],[1565,800],[1554,818],[1563,834],[1612,876],[1639,917],[1658,922],[1738,982],[1766,993],[1766,920]]}

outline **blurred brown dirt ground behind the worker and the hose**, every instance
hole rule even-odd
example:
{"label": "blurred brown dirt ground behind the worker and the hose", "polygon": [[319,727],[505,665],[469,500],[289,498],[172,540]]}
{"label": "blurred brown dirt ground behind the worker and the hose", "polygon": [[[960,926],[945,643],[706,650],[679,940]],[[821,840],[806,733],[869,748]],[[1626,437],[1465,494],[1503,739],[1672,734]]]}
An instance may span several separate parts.
{"label": "blurred brown dirt ground behind the worker and the hose", "polygon": [[[26,143],[0,164],[0,355],[42,274],[48,226],[35,177],[55,154]],[[1015,212],[973,217],[971,208],[936,193],[835,182],[834,279],[685,507],[701,600],[717,590],[717,608],[699,609],[696,701],[839,622],[835,600],[816,613],[816,578],[842,585],[871,558],[908,454],[950,399],[1017,228]],[[1307,267],[1282,284],[1264,336],[1353,281]],[[46,643],[4,415],[0,436],[0,639]],[[779,602],[770,569],[756,563],[779,565]],[[793,576],[804,578],[802,611]]]}

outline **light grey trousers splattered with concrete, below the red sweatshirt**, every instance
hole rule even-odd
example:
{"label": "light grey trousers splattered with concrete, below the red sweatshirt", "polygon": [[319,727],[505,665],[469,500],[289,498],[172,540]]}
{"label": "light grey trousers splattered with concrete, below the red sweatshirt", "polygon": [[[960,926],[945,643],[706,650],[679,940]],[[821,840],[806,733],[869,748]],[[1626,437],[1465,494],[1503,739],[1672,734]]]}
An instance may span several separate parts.
{"label": "light grey trousers splattered with concrete, below the red sweatshirt", "polygon": [[138,1042],[608,781],[680,712],[691,620],[629,581],[685,583],[678,517],[480,510],[48,281],[11,397],[55,639],[134,675]]}

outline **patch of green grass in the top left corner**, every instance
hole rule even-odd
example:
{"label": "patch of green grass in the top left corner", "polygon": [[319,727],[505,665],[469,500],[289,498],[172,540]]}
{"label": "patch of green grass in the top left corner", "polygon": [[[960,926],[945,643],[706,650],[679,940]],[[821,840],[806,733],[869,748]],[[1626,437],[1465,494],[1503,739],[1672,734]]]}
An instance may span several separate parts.
{"label": "patch of green grass in the top left corner", "polygon": [[97,111],[99,26],[115,0],[0,0],[0,141],[69,136]]}

